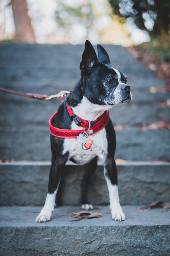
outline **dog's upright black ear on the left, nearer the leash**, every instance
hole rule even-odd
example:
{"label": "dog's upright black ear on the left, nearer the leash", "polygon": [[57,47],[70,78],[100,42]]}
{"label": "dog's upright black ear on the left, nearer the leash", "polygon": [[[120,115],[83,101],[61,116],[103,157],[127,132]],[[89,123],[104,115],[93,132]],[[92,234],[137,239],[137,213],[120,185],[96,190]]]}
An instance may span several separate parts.
{"label": "dog's upright black ear on the left, nearer the leash", "polygon": [[91,43],[86,40],[85,42],[85,49],[82,55],[82,61],[80,62],[80,70],[88,73],[92,69],[92,67],[97,64],[98,58],[95,52],[95,49],[91,45]]}

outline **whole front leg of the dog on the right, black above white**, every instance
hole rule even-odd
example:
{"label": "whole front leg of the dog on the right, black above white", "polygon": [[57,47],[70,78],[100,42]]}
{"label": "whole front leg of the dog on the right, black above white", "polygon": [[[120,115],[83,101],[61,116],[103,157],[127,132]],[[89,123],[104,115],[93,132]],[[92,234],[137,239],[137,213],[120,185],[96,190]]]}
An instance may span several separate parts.
{"label": "whole front leg of the dog on the right, black above white", "polygon": [[124,221],[125,215],[119,203],[117,168],[114,159],[107,158],[106,162],[104,163],[104,175],[109,192],[112,219],[115,219],[115,221]]}

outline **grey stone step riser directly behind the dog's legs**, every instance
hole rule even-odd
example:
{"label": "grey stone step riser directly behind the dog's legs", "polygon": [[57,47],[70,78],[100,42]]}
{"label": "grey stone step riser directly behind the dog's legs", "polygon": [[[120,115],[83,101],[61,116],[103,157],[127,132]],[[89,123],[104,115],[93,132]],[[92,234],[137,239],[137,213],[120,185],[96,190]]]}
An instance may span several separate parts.
{"label": "grey stone step riser directly behind the dog's legs", "polygon": [[[170,163],[117,161],[121,204],[141,204],[170,198]],[[43,205],[45,202],[50,162],[20,161],[0,163],[0,205]],[[59,188],[58,205],[80,204],[83,166],[68,161]],[[108,190],[103,166],[89,183],[90,203],[108,204]]]}

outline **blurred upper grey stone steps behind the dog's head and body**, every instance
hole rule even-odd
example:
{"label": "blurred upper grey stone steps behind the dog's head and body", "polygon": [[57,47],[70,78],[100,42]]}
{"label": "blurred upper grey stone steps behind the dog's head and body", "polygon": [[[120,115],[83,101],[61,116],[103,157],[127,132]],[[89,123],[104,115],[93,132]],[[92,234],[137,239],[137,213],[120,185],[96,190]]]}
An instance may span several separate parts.
{"label": "blurred upper grey stone steps behind the dog's head and body", "polygon": [[[115,126],[132,130],[117,131],[116,158],[147,160],[169,158],[169,131],[141,132],[138,126],[170,122],[168,108],[159,103],[170,93],[150,93],[150,87],[165,85],[154,72],[118,45],[105,45],[111,62],[128,76],[133,101],[110,111]],[[79,64],[84,45],[0,44],[0,87],[23,92],[55,94],[70,90],[80,77]],[[50,160],[48,119],[60,100],[32,100],[0,92],[0,159]]]}

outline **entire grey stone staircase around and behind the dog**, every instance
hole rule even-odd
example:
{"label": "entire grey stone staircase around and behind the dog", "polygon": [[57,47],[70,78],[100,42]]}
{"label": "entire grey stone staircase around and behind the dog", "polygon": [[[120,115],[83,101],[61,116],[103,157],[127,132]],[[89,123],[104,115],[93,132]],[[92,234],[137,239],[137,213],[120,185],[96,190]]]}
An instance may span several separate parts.
{"label": "entire grey stone staircase around and behind the dog", "polygon": [[[60,100],[48,102],[0,92],[0,255],[11,256],[168,256],[169,212],[139,211],[139,205],[170,201],[169,130],[141,131],[139,126],[170,122],[169,108],[161,103],[170,93],[151,93],[165,86],[153,71],[125,48],[106,45],[113,65],[128,76],[133,101],[110,111],[116,127],[118,186],[125,222],[111,219],[103,167],[89,184],[89,201],[100,218],[74,219],[79,212],[83,167],[69,162],[59,188],[51,221],[36,223],[47,193],[50,169],[48,119]],[[56,94],[70,90],[80,77],[83,45],[0,44],[0,87],[23,92]],[[120,129],[121,125],[129,126]],[[147,161],[158,159],[160,161]],[[162,160],[162,161],[161,161]],[[41,205],[41,206],[40,206]],[[76,206],[75,206],[76,205]],[[107,206],[106,206],[107,205]],[[61,216],[69,215],[69,216]]]}

